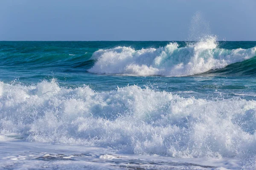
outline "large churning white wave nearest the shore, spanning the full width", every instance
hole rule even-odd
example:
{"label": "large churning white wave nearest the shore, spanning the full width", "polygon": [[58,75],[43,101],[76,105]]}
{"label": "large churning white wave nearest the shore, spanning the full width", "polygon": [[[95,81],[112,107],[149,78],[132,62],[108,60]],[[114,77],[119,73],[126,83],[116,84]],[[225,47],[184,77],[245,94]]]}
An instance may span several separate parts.
{"label": "large churning white wave nearest the shore, spanning the full width", "polygon": [[183,98],[137,85],[96,92],[0,82],[0,130],[28,141],[179,158],[256,153],[256,101]]}

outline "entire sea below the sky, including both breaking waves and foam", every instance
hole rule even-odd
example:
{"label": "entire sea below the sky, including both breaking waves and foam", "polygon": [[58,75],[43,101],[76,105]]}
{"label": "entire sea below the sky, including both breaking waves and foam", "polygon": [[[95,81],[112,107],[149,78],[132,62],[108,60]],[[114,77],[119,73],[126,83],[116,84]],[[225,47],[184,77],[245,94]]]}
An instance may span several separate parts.
{"label": "entire sea below the sky, including both breaking waves and foam", "polygon": [[0,42],[1,169],[256,169],[256,41]]}

